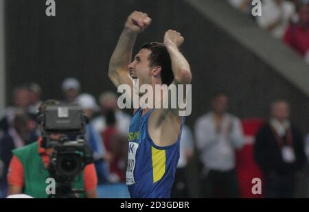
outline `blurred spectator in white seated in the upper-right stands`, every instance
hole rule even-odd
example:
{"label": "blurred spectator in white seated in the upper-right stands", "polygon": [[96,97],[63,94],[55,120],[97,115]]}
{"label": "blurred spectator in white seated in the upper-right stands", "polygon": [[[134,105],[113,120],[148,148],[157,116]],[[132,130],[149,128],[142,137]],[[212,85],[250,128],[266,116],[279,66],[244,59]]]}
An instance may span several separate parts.
{"label": "blurred spectator in white seated in the upper-right stands", "polygon": [[274,38],[281,39],[295,14],[295,5],[290,1],[264,0],[262,16],[258,16],[256,21]]}

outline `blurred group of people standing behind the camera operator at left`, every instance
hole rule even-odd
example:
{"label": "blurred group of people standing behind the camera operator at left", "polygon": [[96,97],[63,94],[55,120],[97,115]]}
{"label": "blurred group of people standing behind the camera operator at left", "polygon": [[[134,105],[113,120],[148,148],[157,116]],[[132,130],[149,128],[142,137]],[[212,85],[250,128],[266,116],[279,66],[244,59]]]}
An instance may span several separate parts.
{"label": "blurred group of people standing behind the camera operator at left", "polygon": [[[78,104],[89,117],[84,139],[93,150],[98,184],[106,197],[128,197],[125,185],[127,134],[130,115],[117,108],[117,95],[104,92],[98,97],[81,93],[80,82],[67,78],[62,82],[64,104]],[[38,84],[16,86],[12,93],[13,105],[0,115],[0,194],[8,194],[12,150],[38,141],[38,108],[43,102]],[[105,196],[100,196],[105,197]]]}

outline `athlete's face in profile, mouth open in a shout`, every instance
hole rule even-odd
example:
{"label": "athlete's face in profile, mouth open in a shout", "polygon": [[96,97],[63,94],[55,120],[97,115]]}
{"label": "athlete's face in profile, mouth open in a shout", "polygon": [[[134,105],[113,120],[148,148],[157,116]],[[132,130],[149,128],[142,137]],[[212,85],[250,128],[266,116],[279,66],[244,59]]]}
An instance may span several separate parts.
{"label": "athlete's face in profile, mouth open in a shout", "polygon": [[133,62],[128,65],[131,77],[139,80],[139,87],[142,84],[151,84],[153,68],[150,67],[150,54],[151,51],[149,49],[141,49]]}

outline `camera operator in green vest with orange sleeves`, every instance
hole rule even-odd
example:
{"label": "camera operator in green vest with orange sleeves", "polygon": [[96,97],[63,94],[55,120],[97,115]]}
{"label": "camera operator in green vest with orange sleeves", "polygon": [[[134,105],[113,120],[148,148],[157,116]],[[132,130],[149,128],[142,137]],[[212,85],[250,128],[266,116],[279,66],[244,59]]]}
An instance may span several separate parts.
{"label": "camera operator in green vest with orange sleeves", "polygon": [[[47,100],[41,104],[39,114],[43,114],[47,106],[58,106],[60,103],[56,100]],[[38,124],[39,130],[42,129],[42,123]],[[51,141],[60,141],[64,134],[51,133]],[[45,180],[49,178],[49,161],[51,155],[55,152],[54,148],[43,148],[43,139],[26,145],[19,150],[13,150],[13,158],[10,162],[8,173],[9,195],[25,193],[34,198],[48,198]],[[83,189],[81,197],[97,198],[96,187],[98,178],[93,163],[85,165],[82,173],[76,176],[73,182],[73,189]],[[57,192],[57,190],[56,190]]]}

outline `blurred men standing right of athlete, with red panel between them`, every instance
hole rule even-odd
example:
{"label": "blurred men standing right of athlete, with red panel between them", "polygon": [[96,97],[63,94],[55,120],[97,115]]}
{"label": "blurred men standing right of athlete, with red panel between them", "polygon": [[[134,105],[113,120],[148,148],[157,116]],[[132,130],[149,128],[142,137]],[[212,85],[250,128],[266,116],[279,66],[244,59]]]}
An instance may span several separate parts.
{"label": "blurred men standing right of athlete, with red panel between them", "polygon": [[290,122],[288,102],[275,100],[268,119],[241,121],[227,113],[228,101],[227,95],[216,95],[212,110],[194,127],[203,197],[257,197],[251,181],[260,178],[260,197],[294,198],[309,155],[308,141]]}

